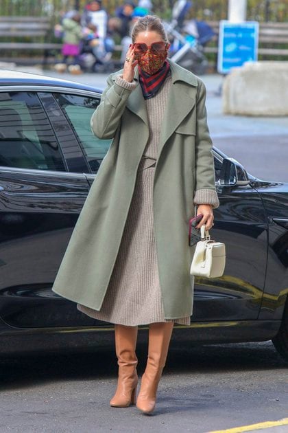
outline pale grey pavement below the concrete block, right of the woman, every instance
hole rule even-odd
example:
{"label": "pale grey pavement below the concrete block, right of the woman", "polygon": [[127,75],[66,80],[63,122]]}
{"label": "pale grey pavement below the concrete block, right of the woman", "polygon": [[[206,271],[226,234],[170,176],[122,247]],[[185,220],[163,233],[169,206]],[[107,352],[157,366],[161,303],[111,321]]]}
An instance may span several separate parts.
{"label": "pale grey pavement below the concrete block, right of the woman", "polygon": [[208,125],[214,146],[237,159],[254,176],[288,182],[287,117],[224,115],[219,96],[224,78],[210,75],[202,80],[207,88]]}

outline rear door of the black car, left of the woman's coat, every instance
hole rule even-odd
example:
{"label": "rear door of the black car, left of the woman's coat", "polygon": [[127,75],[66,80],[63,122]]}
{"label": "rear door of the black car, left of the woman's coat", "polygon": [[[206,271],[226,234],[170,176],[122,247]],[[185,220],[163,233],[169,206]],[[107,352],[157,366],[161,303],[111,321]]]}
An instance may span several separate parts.
{"label": "rear door of the black car, left of the woman's coat", "polygon": [[88,194],[88,170],[52,93],[1,89],[0,318],[7,324],[94,323],[51,292]]}

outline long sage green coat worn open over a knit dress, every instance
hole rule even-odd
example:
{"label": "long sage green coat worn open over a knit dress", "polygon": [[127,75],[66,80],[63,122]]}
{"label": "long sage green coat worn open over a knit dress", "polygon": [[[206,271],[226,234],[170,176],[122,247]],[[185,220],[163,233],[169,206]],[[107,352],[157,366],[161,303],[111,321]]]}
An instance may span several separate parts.
{"label": "long sage green coat worn open over a knit dress", "polygon": [[[154,178],[156,255],[167,319],[192,312],[189,269],[194,249],[188,245],[188,225],[195,215],[195,204],[219,206],[204,85],[186,69],[171,61],[170,65],[172,85]],[[137,83],[133,91],[124,89],[115,83],[117,74],[108,78],[108,87],[91,119],[97,137],[114,140],[88,193],[53,285],[53,291],[64,298],[95,310],[101,309],[115,265],[137,167],[149,137],[141,86]]]}

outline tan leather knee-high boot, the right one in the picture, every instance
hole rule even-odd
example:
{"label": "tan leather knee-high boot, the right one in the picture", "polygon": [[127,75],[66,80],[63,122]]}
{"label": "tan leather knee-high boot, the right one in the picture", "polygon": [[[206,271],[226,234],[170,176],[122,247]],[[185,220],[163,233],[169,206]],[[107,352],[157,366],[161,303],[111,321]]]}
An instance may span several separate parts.
{"label": "tan leather knee-high boot, the right one in the picture", "polygon": [[165,366],[173,322],[149,325],[148,359],[141,380],[136,406],[145,414],[151,414],[156,404],[156,393]]}

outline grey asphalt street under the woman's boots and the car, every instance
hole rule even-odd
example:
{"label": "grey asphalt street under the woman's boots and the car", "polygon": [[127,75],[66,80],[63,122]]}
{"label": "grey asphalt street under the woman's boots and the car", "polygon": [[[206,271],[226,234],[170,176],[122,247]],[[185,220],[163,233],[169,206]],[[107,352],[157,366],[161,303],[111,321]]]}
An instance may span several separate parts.
{"label": "grey asphalt street under the woman's boots and the car", "polygon": [[[145,344],[137,354],[141,375]],[[150,417],[110,408],[116,381],[112,338],[94,354],[2,360],[0,432],[206,433],[288,416],[287,364],[270,342],[191,346],[174,337]]]}

